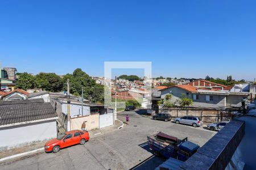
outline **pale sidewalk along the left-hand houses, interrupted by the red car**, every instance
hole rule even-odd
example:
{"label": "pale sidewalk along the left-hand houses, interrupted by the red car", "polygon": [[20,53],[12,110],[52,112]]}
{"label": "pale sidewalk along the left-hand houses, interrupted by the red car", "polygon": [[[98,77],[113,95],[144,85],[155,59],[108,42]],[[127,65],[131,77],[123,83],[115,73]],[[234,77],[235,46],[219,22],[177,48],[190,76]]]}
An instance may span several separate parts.
{"label": "pale sidewalk along the left-hand houses, interrupted by the red car", "polygon": [[[122,125],[122,122],[120,121],[115,121],[115,124],[112,126],[108,126],[106,128],[101,128],[101,129],[93,129],[89,131],[90,138],[97,137],[100,134],[106,134],[109,133],[110,131],[118,130],[119,126]],[[28,152],[28,151],[33,151],[33,150],[38,150],[40,148],[44,147],[44,144],[47,141],[42,141],[38,143],[33,143],[32,145],[28,146],[23,146],[23,147],[18,147],[18,148],[13,148],[10,150],[5,150],[0,152],[0,159],[6,158],[7,156],[13,156],[16,154],[21,154],[23,152]],[[38,152],[44,152],[44,150],[40,150]]]}

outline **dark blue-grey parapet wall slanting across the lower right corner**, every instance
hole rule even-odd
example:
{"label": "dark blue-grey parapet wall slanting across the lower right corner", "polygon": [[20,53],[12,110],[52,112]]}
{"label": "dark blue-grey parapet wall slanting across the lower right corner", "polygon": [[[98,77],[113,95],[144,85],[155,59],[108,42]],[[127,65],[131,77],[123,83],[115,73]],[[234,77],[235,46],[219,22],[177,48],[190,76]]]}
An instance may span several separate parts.
{"label": "dark blue-grey parapet wall slanting across the lower right corner", "polygon": [[[244,134],[245,122],[235,120],[229,122],[229,124],[205,143],[200,150],[181,164],[179,169],[225,169]],[[253,153],[254,155],[255,153]],[[255,159],[253,161],[254,167],[252,169],[255,169]]]}

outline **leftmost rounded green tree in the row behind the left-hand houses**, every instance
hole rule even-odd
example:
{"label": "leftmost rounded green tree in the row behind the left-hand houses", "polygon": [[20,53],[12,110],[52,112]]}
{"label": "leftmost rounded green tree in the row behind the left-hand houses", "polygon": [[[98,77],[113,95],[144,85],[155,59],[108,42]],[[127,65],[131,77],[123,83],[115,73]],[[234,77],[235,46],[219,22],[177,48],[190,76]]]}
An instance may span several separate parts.
{"label": "leftmost rounded green tree in the row behind the left-hand houses", "polygon": [[27,72],[19,73],[19,79],[16,81],[16,88],[22,90],[28,90],[30,88],[35,88],[35,77]]}

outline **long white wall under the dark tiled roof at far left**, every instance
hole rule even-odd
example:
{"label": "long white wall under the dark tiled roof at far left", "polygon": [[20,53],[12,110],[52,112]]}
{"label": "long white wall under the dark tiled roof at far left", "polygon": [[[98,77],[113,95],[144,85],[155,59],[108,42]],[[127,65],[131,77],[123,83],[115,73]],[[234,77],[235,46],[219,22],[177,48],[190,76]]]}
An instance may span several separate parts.
{"label": "long white wall under the dark tiled roof at far left", "polygon": [[0,128],[0,150],[30,145],[57,137],[56,121]]}

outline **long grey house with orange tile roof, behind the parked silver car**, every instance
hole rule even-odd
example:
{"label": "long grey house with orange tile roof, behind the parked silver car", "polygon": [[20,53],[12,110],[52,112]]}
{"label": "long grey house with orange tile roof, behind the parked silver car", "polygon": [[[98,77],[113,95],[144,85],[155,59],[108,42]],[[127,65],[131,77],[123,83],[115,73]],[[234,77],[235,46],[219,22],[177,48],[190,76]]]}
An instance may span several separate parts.
{"label": "long grey house with orange tile roof, behind the parked silver car", "polygon": [[228,90],[218,90],[225,87],[215,86],[216,88],[195,87],[189,84],[180,84],[164,88],[161,91],[161,99],[167,94],[172,94],[171,101],[178,104],[181,96],[193,100],[193,107],[241,107],[241,101],[246,100],[248,92],[230,92]]}

